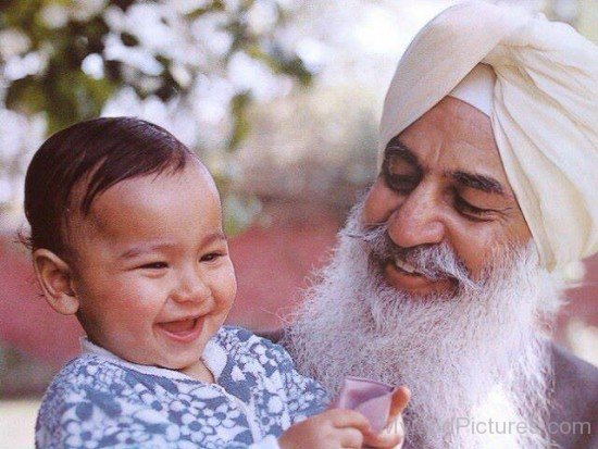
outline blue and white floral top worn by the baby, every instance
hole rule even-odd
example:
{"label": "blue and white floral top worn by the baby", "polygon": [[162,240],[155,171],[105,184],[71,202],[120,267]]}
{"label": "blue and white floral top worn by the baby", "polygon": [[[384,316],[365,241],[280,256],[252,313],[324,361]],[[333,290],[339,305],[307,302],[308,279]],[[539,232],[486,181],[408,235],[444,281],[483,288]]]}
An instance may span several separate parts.
{"label": "blue and white floral top worn by the baby", "polygon": [[238,327],[205,346],[215,384],[83,347],[46,391],[38,448],[278,448],[285,429],[328,402],[281,346]]}

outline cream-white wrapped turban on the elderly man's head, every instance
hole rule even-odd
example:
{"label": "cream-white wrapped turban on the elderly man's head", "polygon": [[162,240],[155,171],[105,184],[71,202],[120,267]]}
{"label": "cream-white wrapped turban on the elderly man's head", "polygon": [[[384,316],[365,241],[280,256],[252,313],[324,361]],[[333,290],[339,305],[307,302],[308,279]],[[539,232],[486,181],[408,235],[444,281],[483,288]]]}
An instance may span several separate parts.
{"label": "cream-white wrapped turban on the elderly man's head", "polygon": [[399,63],[381,153],[478,63],[496,74],[494,136],[543,264],[597,252],[598,49],[569,25],[481,1],[443,12]]}

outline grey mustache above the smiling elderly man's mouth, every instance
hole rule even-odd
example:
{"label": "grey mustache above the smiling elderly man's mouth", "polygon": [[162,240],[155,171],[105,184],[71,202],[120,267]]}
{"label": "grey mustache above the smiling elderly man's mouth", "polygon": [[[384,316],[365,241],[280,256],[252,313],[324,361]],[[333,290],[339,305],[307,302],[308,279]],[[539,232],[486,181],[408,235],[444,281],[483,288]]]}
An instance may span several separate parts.
{"label": "grey mustache above the smiling elderly man's mouth", "polygon": [[412,265],[431,280],[453,279],[462,287],[478,286],[463,260],[447,242],[399,247],[388,235],[386,223],[363,226],[350,236],[365,244],[374,260],[383,264],[399,260]]}

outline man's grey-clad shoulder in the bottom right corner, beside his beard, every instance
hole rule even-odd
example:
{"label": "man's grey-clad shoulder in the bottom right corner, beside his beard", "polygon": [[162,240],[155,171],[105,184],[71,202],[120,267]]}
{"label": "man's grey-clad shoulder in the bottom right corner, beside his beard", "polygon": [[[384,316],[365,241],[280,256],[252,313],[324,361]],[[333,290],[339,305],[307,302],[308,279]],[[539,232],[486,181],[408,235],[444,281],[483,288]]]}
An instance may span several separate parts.
{"label": "man's grey-clad shoulder in the bottom right corner, beside his beard", "polygon": [[[555,344],[551,351],[555,378],[549,422],[559,428],[557,439],[563,448],[594,448],[596,440],[591,437],[598,435],[598,369]],[[591,435],[584,435],[582,427],[573,429],[582,425],[589,426]]]}

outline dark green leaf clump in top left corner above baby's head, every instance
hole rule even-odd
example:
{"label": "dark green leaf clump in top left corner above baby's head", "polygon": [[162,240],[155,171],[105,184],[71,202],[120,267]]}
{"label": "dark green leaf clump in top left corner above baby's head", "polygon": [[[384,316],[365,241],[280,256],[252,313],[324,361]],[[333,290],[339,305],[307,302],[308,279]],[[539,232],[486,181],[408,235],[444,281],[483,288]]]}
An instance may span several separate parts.
{"label": "dark green leaf clump in top left corner above baby's head", "polygon": [[[40,74],[13,80],[5,104],[27,114],[46,112],[50,133],[76,121],[97,116],[119,85],[117,76],[94,79],[82,72],[83,60],[103,50],[108,26],[101,16],[88,22],[68,21],[51,28],[39,17],[48,0],[9,1],[2,7],[2,24],[18,29],[30,41],[30,50],[48,55]],[[66,1],[61,3],[66,4]]]}

